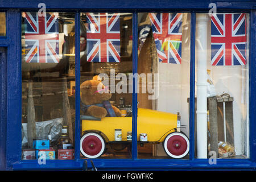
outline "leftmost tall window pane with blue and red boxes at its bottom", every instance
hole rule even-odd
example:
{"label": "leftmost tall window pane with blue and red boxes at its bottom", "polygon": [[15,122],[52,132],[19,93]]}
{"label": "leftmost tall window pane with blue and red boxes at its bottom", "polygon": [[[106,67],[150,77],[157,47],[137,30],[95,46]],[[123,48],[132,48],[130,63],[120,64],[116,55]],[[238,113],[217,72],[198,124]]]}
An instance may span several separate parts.
{"label": "leftmost tall window pane with blue and red boxes at its bottom", "polygon": [[75,14],[22,13],[22,159],[73,159]]}

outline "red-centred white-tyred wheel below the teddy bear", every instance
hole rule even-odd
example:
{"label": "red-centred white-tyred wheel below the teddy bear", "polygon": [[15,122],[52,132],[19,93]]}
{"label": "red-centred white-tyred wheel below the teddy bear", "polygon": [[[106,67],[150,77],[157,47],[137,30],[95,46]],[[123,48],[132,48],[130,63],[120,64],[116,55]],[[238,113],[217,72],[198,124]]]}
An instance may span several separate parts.
{"label": "red-centred white-tyred wheel below the teddy bear", "polygon": [[80,140],[80,151],[86,158],[98,158],[105,151],[105,141],[97,133],[86,133]]}

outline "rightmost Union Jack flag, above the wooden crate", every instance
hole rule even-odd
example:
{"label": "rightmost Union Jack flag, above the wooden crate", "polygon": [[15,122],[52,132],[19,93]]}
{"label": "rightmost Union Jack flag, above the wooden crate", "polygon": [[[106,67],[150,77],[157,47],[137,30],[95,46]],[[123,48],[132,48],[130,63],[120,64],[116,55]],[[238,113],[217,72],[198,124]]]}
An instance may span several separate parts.
{"label": "rightmost Union Jack flag, above the wooden crate", "polygon": [[211,18],[212,65],[246,64],[246,14],[217,14]]}

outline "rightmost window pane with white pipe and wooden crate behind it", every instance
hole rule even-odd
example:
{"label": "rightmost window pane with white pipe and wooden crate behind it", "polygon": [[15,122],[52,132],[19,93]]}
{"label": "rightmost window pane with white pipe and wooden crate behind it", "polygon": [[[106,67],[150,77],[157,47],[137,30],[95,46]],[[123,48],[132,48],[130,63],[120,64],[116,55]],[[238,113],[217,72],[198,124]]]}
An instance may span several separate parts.
{"label": "rightmost window pane with white pipe and wooden crate behind it", "polygon": [[249,158],[249,14],[196,14],[196,158]]}

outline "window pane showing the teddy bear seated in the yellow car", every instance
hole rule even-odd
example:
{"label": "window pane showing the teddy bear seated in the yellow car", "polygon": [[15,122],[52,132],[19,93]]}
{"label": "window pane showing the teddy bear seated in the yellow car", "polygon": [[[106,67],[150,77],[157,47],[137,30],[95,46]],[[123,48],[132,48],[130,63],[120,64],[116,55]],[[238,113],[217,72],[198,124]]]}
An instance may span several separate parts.
{"label": "window pane showing the teddy bear seated in the yellow car", "polygon": [[81,158],[131,158],[132,14],[81,13],[80,44]]}

